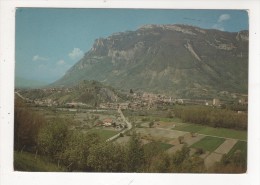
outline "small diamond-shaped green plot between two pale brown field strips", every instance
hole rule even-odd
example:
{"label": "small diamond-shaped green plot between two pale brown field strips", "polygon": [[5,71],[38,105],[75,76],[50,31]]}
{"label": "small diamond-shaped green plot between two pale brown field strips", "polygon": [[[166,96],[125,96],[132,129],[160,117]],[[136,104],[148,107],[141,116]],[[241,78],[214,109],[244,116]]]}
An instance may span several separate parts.
{"label": "small diamond-shaped green plot between two pale brown field strips", "polygon": [[193,145],[191,145],[191,147],[192,148],[201,148],[203,150],[213,152],[224,141],[225,141],[225,139],[223,139],[223,138],[206,136],[206,137],[202,138],[200,141],[198,141],[197,143],[194,143]]}

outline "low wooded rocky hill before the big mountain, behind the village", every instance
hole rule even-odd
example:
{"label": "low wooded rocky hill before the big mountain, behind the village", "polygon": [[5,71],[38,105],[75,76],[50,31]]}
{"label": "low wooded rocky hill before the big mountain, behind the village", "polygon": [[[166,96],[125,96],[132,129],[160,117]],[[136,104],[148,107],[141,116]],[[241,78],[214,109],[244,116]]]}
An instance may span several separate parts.
{"label": "low wooded rocky hill before the big mountain, behind the village", "polygon": [[126,95],[112,87],[105,86],[97,81],[88,80],[83,80],[69,87],[23,89],[19,90],[19,94],[42,105],[74,104],[93,107],[100,103],[128,100]]}

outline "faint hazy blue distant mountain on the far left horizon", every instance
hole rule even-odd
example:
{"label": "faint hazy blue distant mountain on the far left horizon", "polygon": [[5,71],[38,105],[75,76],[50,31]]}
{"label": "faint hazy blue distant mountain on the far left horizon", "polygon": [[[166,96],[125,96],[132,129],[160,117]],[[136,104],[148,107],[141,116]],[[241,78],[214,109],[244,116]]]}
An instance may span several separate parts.
{"label": "faint hazy blue distant mountain on the far left horizon", "polygon": [[15,88],[39,88],[47,85],[45,82],[28,80],[22,77],[15,77]]}

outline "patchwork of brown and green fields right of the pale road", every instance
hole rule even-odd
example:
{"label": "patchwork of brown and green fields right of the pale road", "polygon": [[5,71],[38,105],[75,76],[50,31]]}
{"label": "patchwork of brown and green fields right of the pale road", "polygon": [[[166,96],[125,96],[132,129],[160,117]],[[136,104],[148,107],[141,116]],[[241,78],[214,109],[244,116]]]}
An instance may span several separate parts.
{"label": "patchwork of brown and green fields right of the pale road", "polygon": [[143,139],[167,145],[165,151],[168,153],[181,150],[185,144],[191,149],[190,155],[201,150],[199,156],[204,159],[206,168],[219,162],[224,154],[231,156],[238,150],[246,158],[247,131],[183,123],[178,118],[160,118],[158,115],[133,117],[136,132]]}

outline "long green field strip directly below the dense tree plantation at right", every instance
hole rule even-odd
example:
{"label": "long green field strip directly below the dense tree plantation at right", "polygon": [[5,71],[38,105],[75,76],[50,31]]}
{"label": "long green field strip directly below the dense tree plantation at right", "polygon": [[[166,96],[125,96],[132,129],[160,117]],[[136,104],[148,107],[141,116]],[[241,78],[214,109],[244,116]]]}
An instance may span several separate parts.
{"label": "long green field strip directly below the dense tree plantation at right", "polygon": [[205,134],[217,137],[233,138],[242,141],[247,140],[247,131],[227,129],[227,128],[214,128],[197,124],[183,123],[179,124],[174,130],[196,132],[198,134]]}

